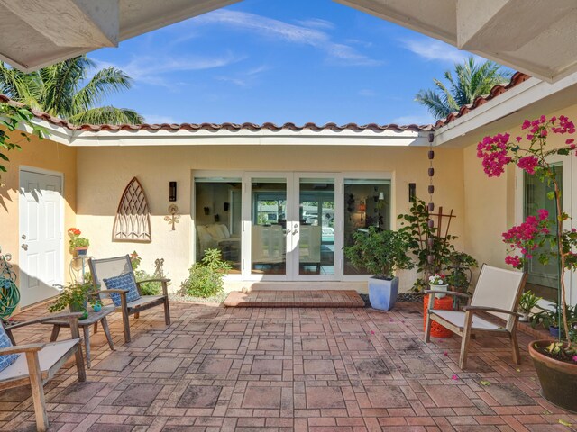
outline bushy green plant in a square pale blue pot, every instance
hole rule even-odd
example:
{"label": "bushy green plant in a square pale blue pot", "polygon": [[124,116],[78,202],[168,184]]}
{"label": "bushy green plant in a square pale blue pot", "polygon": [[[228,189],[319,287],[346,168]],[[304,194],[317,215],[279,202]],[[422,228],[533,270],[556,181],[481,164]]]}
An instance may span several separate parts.
{"label": "bushy green plant in a square pale blue pot", "polygon": [[413,267],[407,255],[407,236],[400,231],[371,227],[366,232],[355,232],[353,240],[353,246],[344,247],[344,256],[353,266],[373,274],[369,278],[371,306],[382,311],[391,310],[398,295],[395,271]]}

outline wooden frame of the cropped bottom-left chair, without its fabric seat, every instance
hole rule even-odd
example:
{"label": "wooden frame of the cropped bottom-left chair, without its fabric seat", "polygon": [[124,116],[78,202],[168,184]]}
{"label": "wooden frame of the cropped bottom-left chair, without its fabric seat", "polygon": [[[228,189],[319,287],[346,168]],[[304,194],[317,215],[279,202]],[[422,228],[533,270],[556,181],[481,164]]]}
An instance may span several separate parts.
{"label": "wooden frame of the cropped bottom-left chair, without its fabric seat", "polygon": [[[4,322],[1,324],[5,328],[5,332],[8,338],[14,344],[14,347],[7,347],[0,349],[0,356],[7,354],[18,354],[23,353],[26,356],[26,363],[28,365],[28,375],[21,375],[5,381],[0,382],[0,390],[12,389],[14,387],[20,387],[30,383],[32,390],[32,402],[34,405],[34,416],[36,419],[36,429],[39,432],[44,432],[48,430],[50,424],[48,421],[48,415],[46,413],[46,398],[44,396],[44,384],[49,382],[54,375],[60,370],[60,367],[66,363],[70,356],[76,357],[76,367],[78,374],[78,382],[82,383],[87,380],[87,373],[84,366],[84,358],[82,356],[82,347],[80,344],[80,333],[78,330],[78,317],[82,315],[80,312],[65,313],[59,315],[52,315],[48,317],[42,317],[36,320],[28,320],[23,322],[17,322],[9,326],[5,326]],[[40,357],[39,354],[41,350],[49,344],[33,343],[26,345],[16,345],[14,342],[14,336],[12,331],[14,329],[20,329],[25,326],[30,326],[32,324],[41,324],[46,321],[59,319],[59,320],[69,320],[71,339],[74,340],[75,344],[69,347],[65,351],[60,359],[52,365],[48,370],[41,371]],[[59,345],[66,340],[60,342],[54,342],[50,345]],[[12,365],[8,366],[9,369]]]}

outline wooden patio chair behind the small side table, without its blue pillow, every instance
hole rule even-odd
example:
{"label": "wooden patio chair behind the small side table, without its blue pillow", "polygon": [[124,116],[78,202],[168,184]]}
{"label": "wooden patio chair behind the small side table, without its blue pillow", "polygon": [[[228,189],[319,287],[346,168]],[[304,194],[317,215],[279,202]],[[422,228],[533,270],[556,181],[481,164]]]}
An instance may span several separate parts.
{"label": "wooden patio chair behind the small side table, without its blue pillow", "polygon": [[[114,276],[124,275],[126,273],[131,273],[134,277],[133,266],[128,255],[123,257],[105,258],[105,259],[94,259],[90,258],[88,260],[88,266],[90,267],[90,275],[92,275],[93,283],[99,287],[99,293],[119,293],[121,305],[117,308],[123,313],[123,324],[124,324],[124,341],[130,342],[130,322],[128,317],[134,315],[134,318],[139,318],[140,312],[151,309],[155,306],[164,306],[164,321],[166,325],[170,325],[170,308],[169,308],[169,292],[167,284],[170,279],[159,278],[159,279],[147,279],[145,281],[136,281],[136,287],[138,292],[141,294],[141,298],[134,302],[126,301],[126,292],[124,290],[106,290],[102,289],[105,287],[104,279]],[[134,279],[135,280],[135,279]],[[162,284],[162,294],[161,295],[142,295],[141,284],[145,282],[160,282]]]}

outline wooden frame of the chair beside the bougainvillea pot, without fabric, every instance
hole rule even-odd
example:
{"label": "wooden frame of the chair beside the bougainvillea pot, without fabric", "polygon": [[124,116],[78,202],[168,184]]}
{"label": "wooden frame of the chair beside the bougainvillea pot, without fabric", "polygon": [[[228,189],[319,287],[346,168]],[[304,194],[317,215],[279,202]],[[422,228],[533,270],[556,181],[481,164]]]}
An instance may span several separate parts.
{"label": "wooden frame of the chair beside the bougainvillea pot, without fabric", "polygon": [[[487,266],[485,264],[483,264],[483,266],[481,267],[481,274],[479,276],[479,281],[477,283],[477,286],[479,285],[479,282],[481,281],[481,275],[483,274],[484,271],[490,271],[491,269],[497,269],[497,267],[491,267],[491,266]],[[511,272],[511,273],[517,273],[517,272],[512,272],[510,270],[503,270],[503,269],[497,269],[501,272]],[[502,308],[496,308],[496,307],[491,307],[491,306],[471,306],[471,302],[472,302],[472,296],[469,294],[465,294],[465,293],[457,293],[454,291],[437,291],[437,290],[426,290],[426,293],[429,294],[429,303],[428,303],[428,308],[427,308],[427,320],[426,320],[426,327],[425,327],[425,341],[428,343],[431,341],[431,323],[432,321],[435,321],[439,324],[441,324],[442,326],[444,326],[446,329],[449,329],[451,331],[453,331],[453,333],[459,335],[462,338],[461,341],[461,354],[459,356],[459,367],[464,370],[467,367],[467,354],[468,354],[468,350],[469,350],[469,343],[471,338],[474,338],[476,335],[478,334],[488,334],[488,335],[493,335],[493,336],[497,336],[497,337],[503,337],[503,336],[507,336],[510,340],[510,344],[511,344],[511,351],[512,351],[512,358],[513,358],[513,362],[515,362],[516,365],[519,365],[521,363],[521,356],[519,353],[519,347],[518,347],[518,342],[517,342],[517,322],[519,317],[521,316],[520,313],[517,312],[517,306],[519,303],[519,300],[521,298],[521,294],[523,293],[523,289],[525,287],[525,284],[527,283],[527,273],[524,273],[522,275],[522,277],[519,280],[519,283],[517,285],[517,293],[515,293],[515,300],[513,302],[513,307],[508,310],[508,309],[502,309]],[[477,290],[477,287],[475,287],[475,291]],[[452,322],[451,320],[446,320],[443,317],[437,315],[434,305],[435,305],[435,297],[437,294],[447,294],[447,295],[451,295],[453,297],[459,297],[459,298],[463,298],[463,299],[467,299],[467,305],[463,307],[463,315],[464,315],[464,320],[463,320],[463,326],[457,325],[454,322]],[[473,297],[474,297],[474,293],[473,293]],[[458,304],[458,302],[457,302]],[[479,328],[473,328],[472,326],[472,320],[473,317],[475,315],[479,315],[481,313],[485,313],[485,314],[490,314],[491,318],[495,318],[498,317],[496,314],[506,314],[508,315],[508,319],[507,319],[507,324],[505,325],[505,327],[498,327],[496,329],[479,329]],[[502,318],[502,317],[499,317]]]}

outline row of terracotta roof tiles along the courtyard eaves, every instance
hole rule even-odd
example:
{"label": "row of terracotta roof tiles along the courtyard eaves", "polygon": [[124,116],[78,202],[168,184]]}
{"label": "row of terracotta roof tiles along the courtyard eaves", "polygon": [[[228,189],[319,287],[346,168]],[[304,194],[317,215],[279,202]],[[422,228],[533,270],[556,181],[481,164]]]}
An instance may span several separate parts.
{"label": "row of terracotta roof tiles along the courtyard eaves", "polygon": [[[322,131],[322,130],[334,130],[335,132],[340,132],[343,130],[353,130],[356,132],[362,132],[363,130],[372,130],[375,132],[381,132],[384,130],[395,130],[395,131],[403,131],[403,130],[413,130],[413,131],[430,131],[435,130],[438,128],[443,127],[444,125],[454,121],[463,115],[467,114],[468,112],[472,112],[475,108],[481,106],[484,103],[487,103],[494,97],[497,97],[499,94],[503,94],[507,92],[510,88],[519,85],[530,76],[523,74],[521,72],[517,72],[511,77],[511,80],[507,85],[495,85],[491,90],[490,94],[486,96],[479,96],[477,97],[471,104],[463,105],[458,112],[452,112],[449,114],[444,120],[436,121],[435,125],[425,124],[425,125],[417,125],[417,124],[408,124],[408,125],[398,125],[395,123],[391,124],[383,124],[379,125],[376,123],[370,123],[365,125],[359,125],[356,123],[347,123],[341,126],[337,125],[336,123],[326,123],[324,125],[318,125],[316,123],[306,123],[302,126],[298,126],[295,123],[284,123],[282,125],[277,125],[275,123],[262,123],[262,124],[254,124],[254,123],[243,123],[243,124],[236,124],[236,123],[182,123],[182,124],[169,124],[169,123],[162,123],[162,124],[121,124],[121,125],[113,125],[113,124],[102,124],[102,125],[94,125],[94,124],[81,124],[81,125],[74,125],[69,123],[68,121],[59,119],[58,117],[53,117],[47,112],[41,112],[37,110],[32,110],[32,113],[39,119],[48,121],[55,126],[60,126],[63,128],[67,128],[69,130],[87,130],[91,132],[98,132],[101,130],[106,131],[119,131],[119,130],[149,130],[149,131],[157,131],[157,130],[171,130],[171,131],[178,131],[178,130],[189,130],[191,132],[197,130],[230,130],[230,131],[239,131],[239,130],[270,130],[270,131],[280,131],[280,130],[293,130],[293,131],[300,131],[300,130],[312,130],[312,131]],[[0,94],[0,102],[7,102],[14,104],[16,106],[21,106],[21,103],[14,102],[9,97],[5,96],[4,94]]]}

